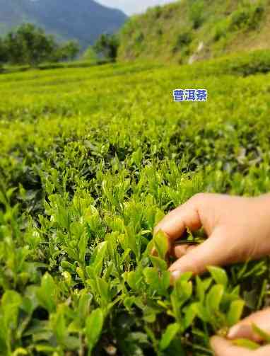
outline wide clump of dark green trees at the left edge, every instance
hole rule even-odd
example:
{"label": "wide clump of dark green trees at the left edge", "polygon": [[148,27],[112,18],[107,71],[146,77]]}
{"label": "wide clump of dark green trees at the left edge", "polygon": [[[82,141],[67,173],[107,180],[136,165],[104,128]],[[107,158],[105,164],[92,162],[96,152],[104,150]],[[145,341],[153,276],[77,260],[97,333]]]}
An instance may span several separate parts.
{"label": "wide clump of dark green trees at the left edge", "polygon": [[0,38],[0,64],[28,64],[59,62],[75,59],[79,52],[77,42],[57,43],[54,36],[42,28],[25,23]]}

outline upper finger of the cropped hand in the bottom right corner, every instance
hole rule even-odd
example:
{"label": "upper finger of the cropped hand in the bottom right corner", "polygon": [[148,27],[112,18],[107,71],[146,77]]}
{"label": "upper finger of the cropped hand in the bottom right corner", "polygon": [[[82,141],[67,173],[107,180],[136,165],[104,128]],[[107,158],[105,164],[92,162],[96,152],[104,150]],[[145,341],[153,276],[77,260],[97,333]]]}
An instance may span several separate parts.
{"label": "upper finger of the cropped hand in the bottom right corner", "polygon": [[270,333],[270,308],[257,311],[230,328],[228,338],[248,338],[254,341],[262,341],[257,333],[254,333],[252,324],[255,324],[266,333]]}

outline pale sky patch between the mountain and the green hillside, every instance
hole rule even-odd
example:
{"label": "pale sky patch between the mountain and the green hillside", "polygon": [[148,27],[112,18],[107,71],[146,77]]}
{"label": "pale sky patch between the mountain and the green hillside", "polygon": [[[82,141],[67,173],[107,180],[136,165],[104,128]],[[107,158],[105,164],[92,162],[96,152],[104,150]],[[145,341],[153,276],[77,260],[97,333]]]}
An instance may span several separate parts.
{"label": "pale sky patch between the mountain and the green hillside", "polygon": [[174,0],[95,0],[102,5],[120,8],[127,15],[146,11],[149,6],[164,5]]}

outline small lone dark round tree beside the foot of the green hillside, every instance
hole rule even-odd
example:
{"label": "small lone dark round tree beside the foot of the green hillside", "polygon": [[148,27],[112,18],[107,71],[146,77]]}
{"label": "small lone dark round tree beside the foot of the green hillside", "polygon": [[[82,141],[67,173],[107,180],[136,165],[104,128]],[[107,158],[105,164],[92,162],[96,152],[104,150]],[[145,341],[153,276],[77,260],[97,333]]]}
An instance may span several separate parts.
{"label": "small lone dark round tree beside the foot of the green hillside", "polygon": [[115,62],[118,47],[119,39],[117,35],[103,34],[95,42],[93,49],[98,54],[98,57]]}

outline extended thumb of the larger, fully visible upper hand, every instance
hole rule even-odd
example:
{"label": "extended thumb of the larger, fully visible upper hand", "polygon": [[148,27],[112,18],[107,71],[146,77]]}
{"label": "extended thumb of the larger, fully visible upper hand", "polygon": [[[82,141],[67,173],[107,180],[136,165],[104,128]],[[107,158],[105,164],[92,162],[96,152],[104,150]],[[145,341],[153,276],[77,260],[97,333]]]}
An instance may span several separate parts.
{"label": "extended thumb of the larger, fully visible upper hand", "polygon": [[232,262],[232,248],[222,228],[217,228],[201,245],[187,250],[187,254],[173,263],[169,270],[172,279],[177,279],[184,272],[199,274],[209,265],[225,265]]}

